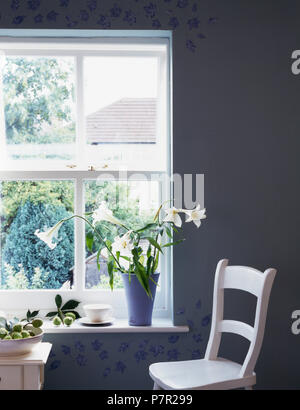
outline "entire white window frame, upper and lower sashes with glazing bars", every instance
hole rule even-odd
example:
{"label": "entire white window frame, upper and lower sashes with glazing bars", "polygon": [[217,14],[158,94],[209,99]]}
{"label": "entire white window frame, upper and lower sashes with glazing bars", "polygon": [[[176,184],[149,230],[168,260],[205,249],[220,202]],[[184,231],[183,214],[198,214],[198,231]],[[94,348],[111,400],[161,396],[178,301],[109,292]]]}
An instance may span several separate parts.
{"label": "entire white window frame, upper and lower sashes with glazing bars", "polygon": [[[62,30],[63,32],[64,30]],[[40,30],[37,30],[40,32]],[[28,53],[32,55],[36,53],[40,55],[41,47],[53,47],[54,54],[57,56],[57,49],[63,48],[62,53],[76,53],[79,52],[81,47],[86,55],[111,55],[115,53],[124,53],[124,55],[159,55],[161,58],[160,71],[164,73],[165,78],[162,83],[164,89],[160,90],[163,97],[160,99],[163,101],[162,106],[158,109],[161,115],[166,116],[165,129],[160,130],[159,134],[165,136],[166,146],[166,168],[164,171],[150,171],[145,170],[128,170],[126,175],[129,180],[157,180],[160,186],[161,201],[165,201],[171,198],[172,185],[171,185],[171,170],[172,170],[172,144],[171,144],[171,54],[170,54],[170,37],[164,33],[164,36],[160,33],[160,37],[153,37],[153,33],[147,33],[145,37],[124,38],[120,37],[104,37],[106,33],[99,31],[99,37],[89,38],[65,38],[60,37],[60,30],[55,31],[55,35],[49,38],[42,38],[37,33],[37,37],[33,36],[32,30],[28,30],[31,35],[30,38],[24,36],[24,38],[10,38],[1,37],[0,30],[0,50],[4,50],[6,55],[13,55],[14,53],[22,51],[21,54]],[[81,33],[81,35],[84,33]],[[119,33],[121,34],[121,33]],[[155,33],[155,36],[158,34]],[[55,38],[53,38],[55,37]],[[80,47],[78,47],[78,44]],[[68,50],[66,49],[68,45]],[[77,47],[77,48],[76,48]],[[95,50],[96,48],[96,50]],[[39,49],[39,51],[37,51]],[[162,51],[164,49],[164,51]],[[49,51],[49,50],[48,50]],[[45,50],[46,53],[46,50]],[[151,54],[152,53],[152,54]],[[47,54],[49,55],[49,53]],[[72,54],[74,55],[74,54]],[[80,52],[76,58],[82,58]],[[82,60],[81,60],[82,61]],[[79,64],[80,69],[80,64]],[[78,77],[77,77],[78,78]],[[80,161],[80,153],[83,152],[83,144],[85,144],[84,138],[84,119],[83,109],[81,105],[83,89],[80,86],[78,80],[76,81],[76,103],[77,103],[77,119],[76,119],[76,145],[77,145],[77,167],[76,169],[66,168],[66,161],[64,161],[64,167],[61,162],[53,164],[52,167],[47,170],[44,169],[44,164],[38,161],[34,165],[34,169],[29,169],[28,165],[25,166],[23,161],[6,162],[3,169],[3,157],[0,157],[0,180],[1,181],[22,181],[22,180],[70,180],[74,181],[74,212],[76,214],[83,215],[85,212],[84,202],[84,181],[93,180],[97,178],[105,179],[115,177],[115,180],[120,179],[120,172],[116,169],[108,169],[101,171],[88,171],[88,161]],[[1,95],[0,95],[1,97]],[[165,107],[165,109],[163,108]],[[3,149],[3,141],[5,138],[4,129],[4,114],[0,115],[0,150]],[[159,144],[161,141],[159,142]],[[3,152],[3,150],[1,151]],[[18,162],[18,167],[16,162]],[[31,161],[29,161],[31,162]],[[72,161],[73,163],[74,161]],[[39,168],[40,166],[40,168]],[[144,175],[144,177],[141,176]],[[61,289],[43,289],[43,290],[0,290],[0,310],[7,310],[18,314],[23,312],[27,308],[39,309],[41,313],[46,313],[54,307],[54,297],[59,293],[64,300],[78,299],[83,305],[84,303],[110,303],[113,305],[115,315],[119,318],[127,316],[125,294],[122,290],[114,290],[113,292],[107,290],[88,290],[85,289],[85,227],[84,222],[75,219],[75,270],[74,270],[74,286],[71,290]],[[165,255],[161,258],[161,286],[157,291],[156,302],[154,307],[154,317],[170,318],[172,314],[172,249],[166,249]]]}

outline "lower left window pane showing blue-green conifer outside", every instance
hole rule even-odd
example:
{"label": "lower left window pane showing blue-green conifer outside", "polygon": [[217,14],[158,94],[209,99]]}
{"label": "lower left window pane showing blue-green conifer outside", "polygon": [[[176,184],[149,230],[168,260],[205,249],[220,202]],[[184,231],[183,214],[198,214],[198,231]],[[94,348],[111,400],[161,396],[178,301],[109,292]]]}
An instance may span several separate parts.
{"label": "lower left window pane showing blue-green conifer outside", "polygon": [[70,289],[73,221],[60,228],[53,250],[35,232],[73,213],[73,182],[2,181],[0,193],[0,289]]}

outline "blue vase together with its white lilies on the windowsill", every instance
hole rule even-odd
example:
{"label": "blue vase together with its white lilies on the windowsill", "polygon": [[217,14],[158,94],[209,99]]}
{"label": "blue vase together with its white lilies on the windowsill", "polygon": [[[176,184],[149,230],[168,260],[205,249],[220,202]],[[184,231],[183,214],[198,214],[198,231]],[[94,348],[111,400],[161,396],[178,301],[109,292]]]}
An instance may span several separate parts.
{"label": "blue vase together with its white lilies on the windowsill", "polygon": [[[98,238],[101,246],[97,251],[97,265],[100,270],[100,255],[107,259],[109,284],[114,287],[114,276],[117,272],[122,275],[129,315],[129,325],[150,326],[152,323],[153,304],[156,287],[160,273],[157,272],[160,254],[164,249],[181,243],[184,239],[173,241],[173,233],[178,233],[182,220],[180,214],[186,215],[185,222],[194,222],[199,228],[201,220],[206,218],[205,209],[200,205],[193,210],[176,209],[175,207],[164,208],[163,203],[156,212],[153,221],[140,229],[128,228],[125,223],[117,219],[107,204],[102,202],[98,209],[85,216],[92,216],[92,222],[86,217],[73,215],[60,220],[54,227],[40,232],[36,236],[44,241],[51,249],[57,246],[58,232],[62,224],[72,218],[84,220],[91,231],[86,236],[88,249],[92,250],[94,238]],[[165,212],[164,218],[161,213]],[[118,227],[119,234],[111,242],[106,240],[97,226],[102,221],[107,221]],[[166,240],[166,238],[168,238]],[[146,243],[146,249],[141,246],[141,241]],[[165,243],[163,243],[165,242]]]}

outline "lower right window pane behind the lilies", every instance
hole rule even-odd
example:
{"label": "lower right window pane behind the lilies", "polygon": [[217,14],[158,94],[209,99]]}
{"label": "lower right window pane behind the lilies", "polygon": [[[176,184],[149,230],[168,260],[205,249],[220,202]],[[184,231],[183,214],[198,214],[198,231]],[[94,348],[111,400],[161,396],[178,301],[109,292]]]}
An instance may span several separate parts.
{"label": "lower right window pane behind the lilies", "polygon": [[[159,183],[157,181],[86,181],[85,183],[86,212],[93,212],[102,201],[107,203],[113,215],[129,229],[138,229],[152,222],[159,206]],[[91,219],[92,221],[92,219]],[[96,225],[103,238],[114,241],[117,235],[126,231],[109,222]],[[86,232],[90,228],[86,226]],[[87,289],[110,289],[106,258],[100,257],[100,272],[97,267],[97,250],[101,242],[94,240],[92,252],[86,250],[86,279]],[[147,252],[146,241],[141,240],[140,245]],[[123,283],[120,275],[116,274],[115,289],[122,289]]]}

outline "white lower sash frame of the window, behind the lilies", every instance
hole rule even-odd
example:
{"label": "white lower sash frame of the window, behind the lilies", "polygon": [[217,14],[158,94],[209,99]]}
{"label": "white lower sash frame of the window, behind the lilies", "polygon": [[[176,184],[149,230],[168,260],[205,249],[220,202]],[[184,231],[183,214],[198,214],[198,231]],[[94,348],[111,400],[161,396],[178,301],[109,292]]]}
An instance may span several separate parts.
{"label": "white lower sash frame of the window, behind the lilies", "polygon": [[[166,174],[129,172],[126,175],[109,171],[0,171],[0,181],[33,181],[68,180],[74,182],[74,213],[83,215],[85,212],[84,184],[90,180],[113,181],[158,181],[160,201],[170,198],[170,183]],[[64,298],[77,298],[84,303],[110,303],[118,317],[125,317],[125,294],[122,290],[89,290],[85,288],[85,223],[79,218],[74,220],[74,284],[70,290],[43,289],[43,290],[0,290],[0,310],[15,311],[26,308],[43,311],[53,308],[54,296],[59,293]],[[157,290],[154,315],[156,317],[170,316],[170,283],[171,283],[171,256],[172,250],[166,248],[161,257],[160,289]]]}

